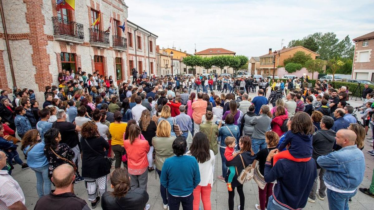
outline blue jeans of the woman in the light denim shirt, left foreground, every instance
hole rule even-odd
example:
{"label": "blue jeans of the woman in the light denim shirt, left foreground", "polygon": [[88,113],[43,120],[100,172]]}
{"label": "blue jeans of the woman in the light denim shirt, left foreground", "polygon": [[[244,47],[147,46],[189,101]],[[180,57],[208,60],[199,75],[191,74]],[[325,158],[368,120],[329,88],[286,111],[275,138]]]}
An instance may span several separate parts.
{"label": "blue jeans of the woman in the light denim shirt, left foreground", "polygon": [[38,192],[39,198],[48,195],[51,189],[52,183],[48,178],[48,167],[48,164],[39,168],[30,167],[36,175],[36,191]]}

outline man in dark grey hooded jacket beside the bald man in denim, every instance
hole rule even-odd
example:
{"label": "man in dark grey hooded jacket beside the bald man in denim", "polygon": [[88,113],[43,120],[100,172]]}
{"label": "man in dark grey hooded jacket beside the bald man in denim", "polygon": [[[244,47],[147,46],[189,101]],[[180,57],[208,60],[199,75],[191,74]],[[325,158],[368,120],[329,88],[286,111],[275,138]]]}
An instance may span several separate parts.
{"label": "man in dark grey hooded jacket beside the bald man in denim", "polygon": [[[317,161],[317,158],[321,155],[327,155],[332,152],[332,147],[335,143],[335,131],[331,130],[331,127],[334,125],[334,119],[330,116],[323,116],[320,126],[321,130],[313,133],[313,153],[312,158]],[[326,185],[324,182],[324,174],[326,169],[322,169],[317,164],[317,177],[314,180],[312,190],[310,191],[308,201],[314,203],[316,201],[316,195],[319,200],[325,200],[326,196]],[[319,190],[317,191],[317,179],[319,177]]]}

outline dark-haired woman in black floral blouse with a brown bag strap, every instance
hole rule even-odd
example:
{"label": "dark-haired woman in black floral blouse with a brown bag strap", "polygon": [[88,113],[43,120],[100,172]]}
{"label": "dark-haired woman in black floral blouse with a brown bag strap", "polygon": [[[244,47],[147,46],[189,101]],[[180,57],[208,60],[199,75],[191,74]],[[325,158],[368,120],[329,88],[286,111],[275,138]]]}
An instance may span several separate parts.
{"label": "dark-haired woman in black floral blouse with a brown bag strap", "polygon": [[[61,134],[58,129],[51,128],[44,135],[44,154],[49,161],[48,177],[52,177],[53,170],[59,165],[70,164],[73,166],[74,151],[65,143],[58,143]],[[65,160],[64,160],[65,159]],[[74,166],[73,166],[74,167]]]}

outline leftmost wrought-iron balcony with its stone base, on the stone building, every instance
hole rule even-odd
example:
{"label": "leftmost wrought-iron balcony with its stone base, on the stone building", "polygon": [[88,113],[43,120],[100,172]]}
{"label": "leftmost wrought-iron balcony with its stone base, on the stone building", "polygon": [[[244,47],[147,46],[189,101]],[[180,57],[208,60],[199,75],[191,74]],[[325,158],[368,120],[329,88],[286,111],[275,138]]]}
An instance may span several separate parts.
{"label": "leftmost wrought-iron balcony with its stone base, on the stone building", "polygon": [[60,17],[52,17],[53,35],[57,41],[71,42],[75,44],[83,43],[85,35],[83,24],[68,21]]}

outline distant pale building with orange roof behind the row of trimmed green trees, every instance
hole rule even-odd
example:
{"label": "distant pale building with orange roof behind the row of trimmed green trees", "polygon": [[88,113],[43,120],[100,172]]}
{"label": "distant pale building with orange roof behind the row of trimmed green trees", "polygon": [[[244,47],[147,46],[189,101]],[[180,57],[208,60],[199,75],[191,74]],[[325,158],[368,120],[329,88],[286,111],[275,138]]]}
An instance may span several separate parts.
{"label": "distant pale building with orange roof behind the row of trimmed green trees", "polygon": [[[200,52],[195,52],[194,53],[194,55],[199,55],[199,56],[202,56],[202,57],[212,57],[212,56],[220,56],[220,55],[234,56],[235,54],[236,54],[236,52],[226,50],[226,49],[223,49],[223,48],[208,48],[206,50],[202,50]],[[188,72],[188,73],[189,74],[194,74],[193,72]],[[199,73],[199,74],[204,74],[204,73],[218,73],[218,74],[229,73],[229,74],[234,74],[234,69],[225,67],[223,70],[221,70],[220,68],[218,68],[216,66],[213,66],[212,68],[206,70],[202,67],[197,67],[196,68],[196,74],[197,73]]]}

